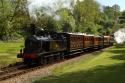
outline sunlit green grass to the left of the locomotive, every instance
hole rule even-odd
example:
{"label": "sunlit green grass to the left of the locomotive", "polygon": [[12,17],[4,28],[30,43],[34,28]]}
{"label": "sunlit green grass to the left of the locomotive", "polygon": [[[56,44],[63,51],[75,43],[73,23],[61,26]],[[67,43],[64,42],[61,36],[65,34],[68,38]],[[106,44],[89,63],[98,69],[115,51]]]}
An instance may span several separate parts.
{"label": "sunlit green grass to the left of the locomotive", "polygon": [[17,41],[0,42],[0,67],[19,61],[16,58],[20,48],[23,46],[23,39]]}

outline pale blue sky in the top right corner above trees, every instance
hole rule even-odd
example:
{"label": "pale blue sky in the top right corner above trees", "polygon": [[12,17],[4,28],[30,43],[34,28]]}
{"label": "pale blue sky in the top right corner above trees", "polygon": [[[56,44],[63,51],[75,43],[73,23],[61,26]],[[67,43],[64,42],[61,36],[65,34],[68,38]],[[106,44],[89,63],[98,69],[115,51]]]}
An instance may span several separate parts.
{"label": "pale blue sky in the top right corner above trees", "polygon": [[125,0],[97,0],[101,5],[112,6],[118,4],[121,11],[125,10]]}

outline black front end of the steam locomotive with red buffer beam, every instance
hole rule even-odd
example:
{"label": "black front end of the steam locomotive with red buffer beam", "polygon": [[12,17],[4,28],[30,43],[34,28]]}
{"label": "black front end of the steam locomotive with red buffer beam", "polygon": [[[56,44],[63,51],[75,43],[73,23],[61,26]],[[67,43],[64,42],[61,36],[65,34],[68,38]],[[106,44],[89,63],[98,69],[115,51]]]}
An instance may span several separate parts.
{"label": "black front end of the steam locomotive with red buffer beam", "polygon": [[33,63],[37,62],[38,54],[47,51],[48,48],[44,47],[44,42],[50,40],[49,37],[37,37],[35,35],[28,37],[25,40],[25,48],[23,50],[24,62]]}

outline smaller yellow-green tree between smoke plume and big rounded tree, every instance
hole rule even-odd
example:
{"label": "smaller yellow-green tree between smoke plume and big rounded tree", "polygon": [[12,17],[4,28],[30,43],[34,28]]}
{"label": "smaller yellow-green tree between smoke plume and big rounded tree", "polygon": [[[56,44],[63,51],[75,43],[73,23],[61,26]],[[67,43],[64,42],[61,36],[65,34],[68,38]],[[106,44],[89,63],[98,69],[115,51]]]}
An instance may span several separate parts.
{"label": "smaller yellow-green tree between smoke plume and big rounded tree", "polygon": [[76,24],[75,19],[72,16],[72,13],[70,10],[67,9],[60,9],[57,12],[58,15],[60,15],[61,20],[59,24],[61,25],[61,29],[63,32],[75,32]]}

